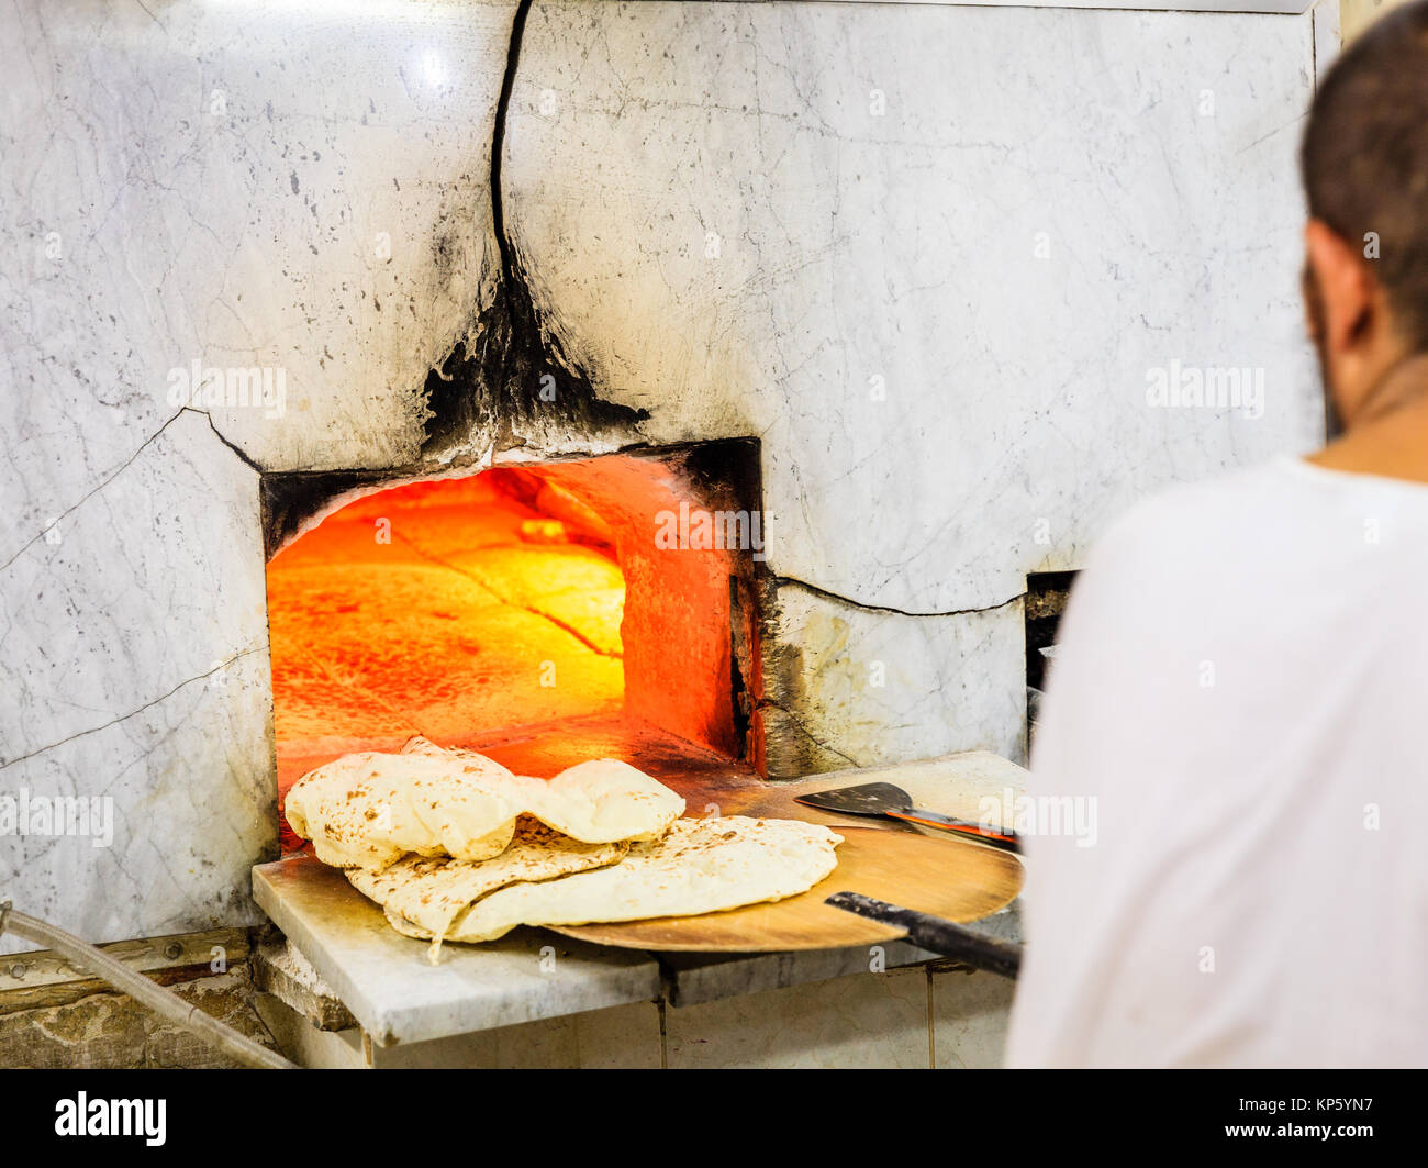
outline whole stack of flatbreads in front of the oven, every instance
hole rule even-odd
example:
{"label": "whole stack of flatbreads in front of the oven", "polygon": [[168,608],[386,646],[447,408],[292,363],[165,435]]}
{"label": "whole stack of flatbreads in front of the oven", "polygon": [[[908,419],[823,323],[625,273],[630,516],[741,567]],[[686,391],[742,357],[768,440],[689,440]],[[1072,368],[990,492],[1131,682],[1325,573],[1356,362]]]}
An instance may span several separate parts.
{"label": "whole stack of flatbreads in front of the oven", "polygon": [[805,892],[843,842],[818,824],[684,820],[613,758],[545,781],[413,738],[303,775],[287,821],[408,937],[494,941],[517,925],[693,917]]}

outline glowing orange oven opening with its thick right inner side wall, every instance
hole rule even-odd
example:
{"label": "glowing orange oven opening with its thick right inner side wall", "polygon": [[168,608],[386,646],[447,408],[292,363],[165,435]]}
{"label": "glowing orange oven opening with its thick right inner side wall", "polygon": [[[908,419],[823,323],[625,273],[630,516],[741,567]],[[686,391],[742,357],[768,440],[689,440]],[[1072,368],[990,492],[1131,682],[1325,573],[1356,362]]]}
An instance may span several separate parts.
{"label": "glowing orange oven opening with its thick right inner side wall", "polygon": [[363,490],[268,561],[280,805],[313,767],[417,734],[537,777],[761,770],[755,444]]}

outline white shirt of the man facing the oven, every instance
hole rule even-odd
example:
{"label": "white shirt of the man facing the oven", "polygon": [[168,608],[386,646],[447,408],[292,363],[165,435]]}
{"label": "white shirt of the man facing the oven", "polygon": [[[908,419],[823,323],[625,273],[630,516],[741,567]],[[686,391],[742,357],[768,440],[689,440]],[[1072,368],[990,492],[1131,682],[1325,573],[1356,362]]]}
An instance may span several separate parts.
{"label": "white shirt of the man facing the oven", "polygon": [[1281,458],[1135,507],[1031,771],[1010,1065],[1428,1065],[1428,485]]}

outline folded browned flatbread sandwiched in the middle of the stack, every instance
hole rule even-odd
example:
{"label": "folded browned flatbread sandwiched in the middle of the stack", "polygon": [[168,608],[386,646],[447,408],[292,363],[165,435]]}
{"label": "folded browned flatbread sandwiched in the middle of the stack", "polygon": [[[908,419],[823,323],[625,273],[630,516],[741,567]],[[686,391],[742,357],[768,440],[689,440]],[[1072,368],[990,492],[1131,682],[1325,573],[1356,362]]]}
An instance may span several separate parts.
{"label": "folded browned flatbread sandwiched in the middle of the stack", "polygon": [[624,842],[583,844],[524,815],[511,845],[491,860],[407,855],[380,872],[348,868],[347,880],[377,901],[388,920],[403,920],[434,938],[434,957],[451,921],[488,892],[614,864],[628,850]]}

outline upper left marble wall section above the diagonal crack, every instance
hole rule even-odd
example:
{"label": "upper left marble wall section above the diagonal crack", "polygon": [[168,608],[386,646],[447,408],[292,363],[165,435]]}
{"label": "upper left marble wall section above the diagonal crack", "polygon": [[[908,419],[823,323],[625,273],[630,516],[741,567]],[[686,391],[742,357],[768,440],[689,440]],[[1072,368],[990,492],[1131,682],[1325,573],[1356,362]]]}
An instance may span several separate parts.
{"label": "upper left marble wall section above the diagonal crack", "polygon": [[427,371],[494,296],[514,7],[7,17],[0,360],[24,408],[0,417],[0,490],[20,534],[153,434],[196,360],[286,371],[281,418],[213,410],[267,468],[413,460]]}

